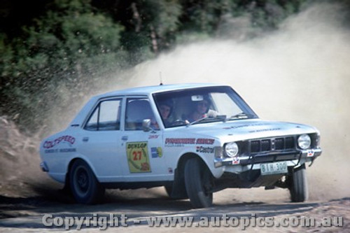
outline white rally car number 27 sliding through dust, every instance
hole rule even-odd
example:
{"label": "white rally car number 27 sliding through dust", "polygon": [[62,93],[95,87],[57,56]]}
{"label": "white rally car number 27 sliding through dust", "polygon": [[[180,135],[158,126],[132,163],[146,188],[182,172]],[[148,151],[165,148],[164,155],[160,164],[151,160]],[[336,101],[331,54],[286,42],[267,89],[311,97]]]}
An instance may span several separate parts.
{"label": "white rally car number 27 sliding through dust", "polygon": [[219,190],[260,186],[304,202],[305,164],[321,151],[314,127],[261,120],[232,87],[198,83],[92,97],[40,146],[41,169],[76,202],[99,202],[106,188],[165,186],[195,208]]}

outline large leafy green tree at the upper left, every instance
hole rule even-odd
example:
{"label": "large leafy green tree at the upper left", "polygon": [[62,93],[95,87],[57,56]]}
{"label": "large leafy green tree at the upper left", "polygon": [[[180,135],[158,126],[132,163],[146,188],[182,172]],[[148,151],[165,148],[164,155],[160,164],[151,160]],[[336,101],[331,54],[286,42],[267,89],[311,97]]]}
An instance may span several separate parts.
{"label": "large leafy green tree at the upper left", "polygon": [[123,27],[95,12],[89,0],[57,0],[49,8],[22,27],[21,37],[0,37],[1,114],[20,113],[18,120],[34,121],[34,127],[62,97],[57,86],[67,86],[69,98],[61,103],[69,106],[90,83],[103,83],[104,73],[123,66],[126,56],[120,49]]}

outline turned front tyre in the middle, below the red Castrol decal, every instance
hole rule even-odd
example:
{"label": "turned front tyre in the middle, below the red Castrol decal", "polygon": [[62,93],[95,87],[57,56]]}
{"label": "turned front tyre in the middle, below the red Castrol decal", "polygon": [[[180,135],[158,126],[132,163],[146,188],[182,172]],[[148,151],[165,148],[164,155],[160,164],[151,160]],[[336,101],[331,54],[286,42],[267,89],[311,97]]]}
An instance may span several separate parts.
{"label": "turned front tyre in the middle, below the red Castrol decal", "polygon": [[213,204],[211,192],[212,176],[198,158],[190,158],[185,164],[185,185],[191,204],[195,208],[206,208]]}

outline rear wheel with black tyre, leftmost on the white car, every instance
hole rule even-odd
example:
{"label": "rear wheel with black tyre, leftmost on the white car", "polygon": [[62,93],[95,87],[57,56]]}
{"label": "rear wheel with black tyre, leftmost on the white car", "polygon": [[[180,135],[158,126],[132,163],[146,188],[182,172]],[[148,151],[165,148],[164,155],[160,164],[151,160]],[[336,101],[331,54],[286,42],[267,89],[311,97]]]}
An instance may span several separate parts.
{"label": "rear wheel with black tyre, leftmost on the white car", "polygon": [[104,195],[104,188],[83,160],[76,160],[71,166],[69,183],[73,197],[78,203],[95,204]]}

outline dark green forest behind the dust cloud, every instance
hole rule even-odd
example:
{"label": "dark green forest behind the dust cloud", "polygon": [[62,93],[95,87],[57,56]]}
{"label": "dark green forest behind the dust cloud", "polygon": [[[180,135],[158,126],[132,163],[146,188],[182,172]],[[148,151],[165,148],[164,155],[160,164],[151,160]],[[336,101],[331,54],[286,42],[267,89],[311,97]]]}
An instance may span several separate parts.
{"label": "dark green forest behind the dust cloud", "polygon": [[[64,111],[118,71],[179,44],[220,38],[228,19],[248,19],[248,40],[315,2],[1,0],[0,115],[35,132],[55,103]],[[349,1],[331,2],[350,10]]]}

